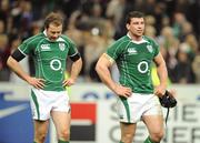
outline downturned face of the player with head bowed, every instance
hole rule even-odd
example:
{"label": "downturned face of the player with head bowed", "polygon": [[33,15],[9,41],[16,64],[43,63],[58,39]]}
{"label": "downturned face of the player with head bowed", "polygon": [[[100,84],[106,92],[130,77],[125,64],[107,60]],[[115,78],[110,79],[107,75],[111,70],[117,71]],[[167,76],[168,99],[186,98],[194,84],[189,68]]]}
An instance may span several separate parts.
{"label": "downturned face of the player with head bowed", "polygon": [[60,25],[49,24],[49,28],[47,28],[46,30],[49,40],[56,41],[62,33],[62,24]]}

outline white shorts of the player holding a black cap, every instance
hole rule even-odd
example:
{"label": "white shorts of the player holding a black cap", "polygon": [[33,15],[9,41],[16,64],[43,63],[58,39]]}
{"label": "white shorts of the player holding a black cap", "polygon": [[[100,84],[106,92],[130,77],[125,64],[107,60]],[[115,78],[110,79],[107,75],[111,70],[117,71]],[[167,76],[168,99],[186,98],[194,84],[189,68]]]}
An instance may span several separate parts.
{"label": "white shorts of the player holding a black cap", "polygon": [[133,93],[128,99],[119,99],[117,111],[124,123],[137,123],[143,115],[162,115],[159,98],[153,94]]}

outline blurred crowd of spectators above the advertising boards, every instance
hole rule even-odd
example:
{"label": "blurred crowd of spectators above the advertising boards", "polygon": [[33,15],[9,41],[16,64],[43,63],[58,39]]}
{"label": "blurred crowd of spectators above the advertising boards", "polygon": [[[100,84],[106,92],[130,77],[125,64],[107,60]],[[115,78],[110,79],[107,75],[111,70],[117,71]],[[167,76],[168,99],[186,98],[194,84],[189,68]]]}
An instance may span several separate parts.
{"label": "blurred crowd of spectators above the advertising boards", "polygon": [[[124,17],[146,14],[146,35],[160,44],[172,83],[200,83],[200,0],[0,0],[0,81],[14,82],[9,54],[43,30],[50,11],[64,17],[63,33],[77,44],[83,69],[79,82],[100,82],[94,65],[109,44],[126,34]],[[21,64],[34,73],[33,61]]]}

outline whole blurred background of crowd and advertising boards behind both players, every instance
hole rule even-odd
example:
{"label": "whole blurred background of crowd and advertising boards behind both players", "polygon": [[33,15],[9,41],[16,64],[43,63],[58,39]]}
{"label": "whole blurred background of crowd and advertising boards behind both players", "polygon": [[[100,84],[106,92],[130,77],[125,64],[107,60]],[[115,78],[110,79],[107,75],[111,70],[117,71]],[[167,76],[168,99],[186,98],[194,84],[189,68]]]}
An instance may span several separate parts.
{"label": "whole blurred background of crowd and advertising boards behind both players", "polygon": [[[76,42],[83,59],[78,83],[68,89],[72,143],[118,143],[116,98],[101,83],[94,65],[108,45],[126,34],[124,17],[132,10],[146,13],[144,34],[159,43],[169,89],[176,90],[179,100],[162,142],[200,142],[199,0],[0,0],[0,143],[32,142],[30,86],[9,70],[6,61],[24,39],[43,30],[44,17],[51,11],[64,17],[63,34]],[[31,58],[20,63],[34,74]],[[117,68],[111,70],[118,80]],[[152,79],[157,85],[154,68]],[[147,131],[143,124],[138,129],[134,141],[142,143]],[[53,130],[51,125],[47,143],[56,143]]]}

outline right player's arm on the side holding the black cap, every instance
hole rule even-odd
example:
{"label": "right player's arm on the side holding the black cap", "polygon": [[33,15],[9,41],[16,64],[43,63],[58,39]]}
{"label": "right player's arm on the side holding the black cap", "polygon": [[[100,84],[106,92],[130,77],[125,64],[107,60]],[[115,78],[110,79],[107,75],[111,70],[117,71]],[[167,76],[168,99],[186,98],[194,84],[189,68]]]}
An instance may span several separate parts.
{"label": "right player's arm on the side holding the black cap", "polygon": [[166,62],[160,52],[154,58],[154,63],[157,65],[157,73],[160,80],[160,85],[156,88],[154,94],[160,96],[164,94],[168,82],[168,71],[167,71]]}

